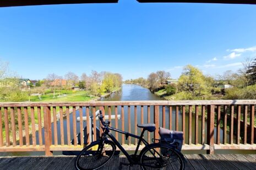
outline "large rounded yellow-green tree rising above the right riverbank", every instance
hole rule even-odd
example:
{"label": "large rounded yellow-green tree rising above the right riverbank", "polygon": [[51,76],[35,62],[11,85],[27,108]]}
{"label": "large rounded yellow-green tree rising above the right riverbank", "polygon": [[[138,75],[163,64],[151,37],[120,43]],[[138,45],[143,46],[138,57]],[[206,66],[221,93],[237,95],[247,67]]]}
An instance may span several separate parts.
{"label": "large rounded yellow-green tree rising above the right riverbank", "polygon": [[190,100],[195,100],[204,95],[209,95],[209,81],[206,81],[206,77],[203,73],[193,67],[192,65],[187,65],[183,69],[182,75],[178,79],[179,90],[182,90],[189,94]]}

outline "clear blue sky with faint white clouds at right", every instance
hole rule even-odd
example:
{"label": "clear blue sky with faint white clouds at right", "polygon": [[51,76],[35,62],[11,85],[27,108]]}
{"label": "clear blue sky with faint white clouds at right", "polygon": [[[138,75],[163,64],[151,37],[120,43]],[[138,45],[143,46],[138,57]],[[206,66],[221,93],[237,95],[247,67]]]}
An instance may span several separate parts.
{"label": "clear blue sky with faint white clouds at right", "polygon": [[23,78],[48,73],[157,70],[178,78],[192,64],[206,74],[256,58],[256,5],[138,3],[0,8],[0,59]]}

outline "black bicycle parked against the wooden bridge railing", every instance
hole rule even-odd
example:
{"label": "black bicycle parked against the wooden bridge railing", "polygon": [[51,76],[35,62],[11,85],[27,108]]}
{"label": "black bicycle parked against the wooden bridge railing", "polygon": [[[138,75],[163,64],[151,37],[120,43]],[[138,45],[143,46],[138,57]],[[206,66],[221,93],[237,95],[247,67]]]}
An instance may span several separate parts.
{"label": "black bicycle parked against the wooden bridge railing", "polygon": [[[183,155],[171,144],[158,143],[149,144],[143,139],[145,131],[154,132],[155,124],[137,124],[138,127],[143,128],[140,137],[124,131],[110,127],[110,121],[103,120],[101,110],[97,110],[96,116],[99,117],[100,126],[102,128],[101,137],[93,141],[90,145],[86,146],[75,159],[76,169],[98,169],[104,166],[116,152],[116,146],[123,152],[129,161],[129,166],[140,165],[141,169],[183,169]],[[116,140],[110,131],[116,131],[139,139],[137,148],[133,155],[129,155],[122,145]],[[111,139],[111,140],[110,140]],[[140,144],[144,143],[145,147],[138,153]]]}

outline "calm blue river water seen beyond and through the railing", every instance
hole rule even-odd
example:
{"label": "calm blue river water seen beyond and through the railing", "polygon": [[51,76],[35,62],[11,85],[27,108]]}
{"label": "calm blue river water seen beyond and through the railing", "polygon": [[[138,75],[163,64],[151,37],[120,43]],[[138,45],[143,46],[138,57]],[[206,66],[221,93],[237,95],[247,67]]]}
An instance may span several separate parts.
{"label": "calm blue river water seen beyond and through the railing", "polygon": [[[118,92],[115,92],[115,93],[112,93],[111,95],[109,95],[108,97],[105,97],[105,98],[102,98],[101,100],[104,100],[104,101],[129,101],[129,100],[162,100],[161,98],[157,97],[156,95],[152,94],[150,92],[149,89],[146,89],[144,87],[141,87],[141,86],[138,86],[138,85],[134,85],[134,84],[123,84],[122,85],[122,89],[119,90]],[[96,108],[97,109],[97,108]],[[147,107],[145,106],[144,107],[144,123],[147,123],[148,121],[148,114],[147,114]],[[172,129],[175,129],[176,127],[176,124],[175,124],[175,118],[176,118],[176,114],[175,114],[175,107],[172,108]],[[140,111],[141,111],[141,107],[140,106],[137,106],[137,120],[138,120],[138,123],[141,122],[140,120]],[[106,108],[105,110],[106,112],[106,115],[108,114],[108,110]],[[166,107],[166,120],[165,120],[165,123],[166,123],[166,128],[169,127],[169,123],[168,123],[168,120],[169,120],[169,114],[168,114],[169,110],[168,110],[168,107]],[[79,117],[79,111],[77,110],[75,112],[76,114],[76,117]],[[111,108],[111,114],[112,115],[115,115],[115,112],[114,112],[114,108],[112,107]],[[118,106],[118,114],[121,115],[121,107]],[[90,110],[90,115],[91,115],[91,110]],[[86,116],[86,112],[85,112],[85,108],[83,107],[83,116]],[[150,122],[154,122],[153,120],[153,117],[154,116],[154,108],[153,106],[150,106]],[[71,139],[73,139],[73,113],[70,114],[70,137]],[[130,106],[130,118],[131,118],[131,133],[134,133],[134,127],[136,126],[136,124],[134,124],[134,106]],[[179,131],[182,131],[182,114],[181,112],[179,112],[179,123],[178,123],[178,127],[179,127]],[[124,120],[128,120],[128,107],[127,106],[124,106]],[[160,106],[160,117],[159,117],[159,120],[160,120],[160,127],[162,127],[162,106]],[[64,125],[64,143],[67,144],[67,120],[66,120],[66,117],[63,117],[63,125]],[[83,127],[85,128],[86,124],[85,122],[83,123]],[[99,127],[99,123],[97,122],[96,123],[97,127]],[[186,114],[186,143],[188,143],[188,114]],[[76,124],[77,126],[77,132],[79,133],[80,132],[80,123],[77,122]],[[111,122],[111,126],[112,127],[115,127],[115,120],[112,120]],[[121,129],[122,127],[122,122],[121,120],[118,120],[118,129]],[[124,122],[124,130],[128,132],[128,121],[125,121]],[[201,118],[199,116],[199,124],[198,124],[198,142],[201,143]],[[207,136],[207,131],[206,131],[206,128],[207,128],[207,124],[206,124],[206,121],[205,121],[205,141],[206,141],[206,136]],[[60,137],[60,123],[59,121],[57,122],[57,131],[58,131],[58,144],[61,143],[61,137]],[[52,123],[52,132],[53,132],[53,123]],[[192,116],[192,143],[194,143],[194,132],[195,132],[195,115]],[[44,129],[42,129],[42,134],[44,134]],[[115,132],[113,133],[115,134]],[[221,129],[221,132],[220,134],[223,134],[223,131]],[[140,135],[140,129],[138,128],[138,135]],[[147,139],[147,133],[145,133],[145,139]],[[215,139],[216,139],[216,128],[215,128]],[[151,133],[150,137],[154,137],[154,134]],[[229,141],[229,135],[227,134],[227,141]],[[36,138],[37,138],[37,141],[36,143],[38,144],[39,141],[38,141],[38,133],[36,133]],[[44,138],[44,137],[43,137]],[[52,139],[53,138],[53,135],[52,135]],[[118,136],[118,139],[119,141],[121,142],[121,134],[119,134]],[[44,139],[43,139],[44,140]],[[221,139],[220,139],[220,142],[222,143],[222,135],[221,135]],[[30,143],[32,143],[32,141],[30,141]],[[125,142],[126,144],[128,144],[128,140],[126,140]],[[132,143],[134,143],[134,139],[132,139]],[[234,143],[236,143],[236,141],[234,140]],[[53,140],[53,144],[54,144],[54,140]],[[187,151],[186,151],[187,152]],[[204,151],[199,151],[198,153],[204,153]],[[233,152],[233,151],[232,151]],[[239,151],[240,152],[240,151]],[[195,153],[195,152],[193,152]],[[231,153],[231,152],[230,152]],[[5,152],[5,153],[1,153],[0,155],[2,156],[13,156],[13,155],[44,155],[45,153],[44,152]],[[59,154],[62,154],[62,152],[53,152],[53,154],[55,155],[59,155]]]}

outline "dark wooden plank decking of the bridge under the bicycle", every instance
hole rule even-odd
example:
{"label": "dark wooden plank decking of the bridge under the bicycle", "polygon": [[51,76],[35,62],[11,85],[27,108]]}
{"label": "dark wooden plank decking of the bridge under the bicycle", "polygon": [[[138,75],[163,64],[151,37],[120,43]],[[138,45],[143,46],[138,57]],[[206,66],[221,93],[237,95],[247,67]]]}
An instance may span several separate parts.
{"label": "dark wooden plank decking of the bridge under the bicycle", "polygon": [[[256,169],[256,154],[185,155],[186,169]],[[74,169],[74,156],[0,157],[1,169]],[[114,156],[101,169],[129,169],[120,162],[126,157]],[[134,166],[131,169],[140,169]]]}

